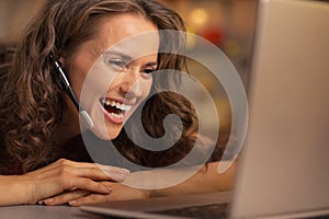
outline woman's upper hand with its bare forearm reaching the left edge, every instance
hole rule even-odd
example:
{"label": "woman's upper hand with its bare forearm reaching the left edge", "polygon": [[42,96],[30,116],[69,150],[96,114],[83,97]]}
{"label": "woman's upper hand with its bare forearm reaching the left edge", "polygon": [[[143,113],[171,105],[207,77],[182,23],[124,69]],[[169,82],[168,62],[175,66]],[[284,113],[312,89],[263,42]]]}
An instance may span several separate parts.
{"label": "woman's upper hand with its bare forearm reaching the left edge", "polygon": [[110,194],[111,189],[97,181],[122,182],[127,174],[127,170],[120,168],[60,159],[24,175],[1,175],[0,206],[36,204],[49,196],[76,188]]}

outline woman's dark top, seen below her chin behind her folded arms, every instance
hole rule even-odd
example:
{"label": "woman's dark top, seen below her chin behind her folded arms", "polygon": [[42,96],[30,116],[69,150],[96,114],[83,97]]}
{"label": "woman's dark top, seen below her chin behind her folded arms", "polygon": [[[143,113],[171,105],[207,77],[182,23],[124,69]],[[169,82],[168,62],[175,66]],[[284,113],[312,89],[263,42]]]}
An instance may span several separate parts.
{"label": "woman's dark top, seen below her chin behind her folded arms", "polygon": [[[77,161],[77,162],[95,162],[104,165],[114,165],[127,168],[131,171],[146,170],[147,168],[162,168],[174,164],[189,154],[191,148],[180,147],[180,142],[164,151],[148,151],[138,146],[131,145],[129,141],[116,141],[115,147],[112,141],[99,139],[91,131],[86,131],[83,135],[78,135],[61,146],[56,147],[55,155],[48,163],[53,163],[60,158]],[[181,146],[184,146],[183,143]],[[208,143],[205,143],[208,145]],[[3,146],[3,145],[2,145]],[[206,147],[207,148],[207,147]],[[185,163],[197,164],[201,157],[206,155],[206,148],[201,147],[196,157],[189,158]],[[129,150],[136,160],[131,160],[127,155],[123,155]],[[138,157],[139,154],[139,157]],[[223,148],[215,148],[208,161],[218,161],[223,154]],[[8,161],[5,149],[0,143],[0,174],[22,174],[21,164],[16,161]],[[135,163],[138,164],[135,164]],[[143,168],[141,168],[143,166]],[[146,169],[144,169],[146,168]]]}

